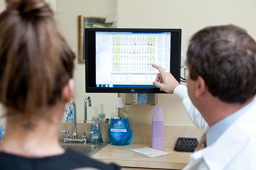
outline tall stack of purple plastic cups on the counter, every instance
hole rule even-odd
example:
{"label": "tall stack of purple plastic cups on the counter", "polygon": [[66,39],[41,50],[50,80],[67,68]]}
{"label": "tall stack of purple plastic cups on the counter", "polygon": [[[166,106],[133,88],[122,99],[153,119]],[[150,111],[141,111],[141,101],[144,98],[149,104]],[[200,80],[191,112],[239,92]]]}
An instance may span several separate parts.
{"label": "tall stack of purple plastic cups on the counter", "polygon": [[163,111],[162,107],[155,106],[152,118],[152,148],[163,149]]}

